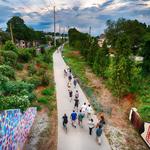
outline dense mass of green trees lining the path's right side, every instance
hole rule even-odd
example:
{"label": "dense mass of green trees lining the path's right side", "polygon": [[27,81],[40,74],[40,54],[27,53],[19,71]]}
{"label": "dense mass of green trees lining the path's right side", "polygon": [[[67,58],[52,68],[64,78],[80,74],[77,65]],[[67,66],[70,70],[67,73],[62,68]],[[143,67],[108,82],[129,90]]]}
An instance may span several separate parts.
{"label": "dense mass of green trees lining the path's right side", "polygon": [[[135,29],[139,32],[135,32]],[[134,94],[137,99],[136,106],[145,121],[149,121],[150,116],[148,113],[150,112],[148,107],[150,105],[149,29],[149,26],[137,20],[109,20],[105,30],[106,40],[101,48],[96,38],[81,33],[75,28],[69,30],[70,50],[76,49],[81,52],[83,56],[83,62],[81,62],[86,61],[98,76],[103,77],[107,87],[118,97],[119,101],[128,94]],[[134,55],[143,56],[143,62],[137,63],[133,59]],[[79,69],[78,66],[82,66],[78,57],[81,56],[74,54],[67,58],[72,67],[76,68],[75,70]],[[73,61],[76,63],[73,64]],[[84,70],[82,67],[80,69]],[[78,70],[77,74],[80,74],[79,72]],[[84,75],[81,73],[81,78],[82,76]]]}

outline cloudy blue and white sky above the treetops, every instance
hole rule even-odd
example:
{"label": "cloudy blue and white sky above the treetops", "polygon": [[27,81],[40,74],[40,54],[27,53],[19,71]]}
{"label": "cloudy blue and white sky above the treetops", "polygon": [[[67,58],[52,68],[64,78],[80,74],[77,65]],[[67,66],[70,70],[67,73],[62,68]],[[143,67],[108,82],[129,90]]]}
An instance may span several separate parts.
{"label": "cloudy blue and white sky above the treetops", "polygon": [[100,35],[108,19],[137,19],[150,25],[150,0],[0,0],[0,28],[12,16],[45,32],[53,31],[53,6],[56,6],[56,31],[76,27],[81,32]]}

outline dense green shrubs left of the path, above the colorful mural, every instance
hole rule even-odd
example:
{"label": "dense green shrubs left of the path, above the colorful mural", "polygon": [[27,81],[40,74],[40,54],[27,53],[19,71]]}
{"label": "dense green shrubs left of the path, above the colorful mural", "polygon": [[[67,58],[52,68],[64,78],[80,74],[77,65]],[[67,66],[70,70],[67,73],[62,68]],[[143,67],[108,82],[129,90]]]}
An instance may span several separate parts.
{"label": "dense green shrubs left of the path, above the colorful mural", "polygon": [[[41,103],[52,110],[55,107],[52,75],[52,54],[55,48],[37,55],[36,49],[18,49],[10,41],[3,47],[0,50],[0,110],[25,111],[30,106],[41,109]],[[39,87],[45,88],[42,93],[46,97],[41,98],[36,93]]]}

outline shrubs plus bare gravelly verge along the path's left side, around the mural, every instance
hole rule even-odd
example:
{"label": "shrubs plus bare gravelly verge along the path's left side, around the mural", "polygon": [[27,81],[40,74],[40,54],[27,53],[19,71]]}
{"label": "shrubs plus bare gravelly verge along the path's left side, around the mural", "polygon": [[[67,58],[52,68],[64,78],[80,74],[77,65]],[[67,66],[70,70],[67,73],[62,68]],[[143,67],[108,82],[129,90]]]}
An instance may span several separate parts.
{"label": "shrubs plus bare gravelly verge along the path's left side, around the mural", "polygon": [[0,111],[38,110],[25,149],[57,149],[54,51],[53,47],[40,53],[34,48],[19,49],[10,41],[0,50]]}

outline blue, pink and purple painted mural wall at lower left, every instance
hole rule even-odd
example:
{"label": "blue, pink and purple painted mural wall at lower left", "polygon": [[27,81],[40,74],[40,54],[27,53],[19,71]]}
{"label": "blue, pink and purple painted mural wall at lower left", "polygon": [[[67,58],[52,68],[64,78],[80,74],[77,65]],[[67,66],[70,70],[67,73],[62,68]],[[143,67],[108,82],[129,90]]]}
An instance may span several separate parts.
{"label": "blue, pink and purple painted mural wall at lower left", "polygon": [[36,116],[36,108],[0,112],[0,150],[21,150]]}

